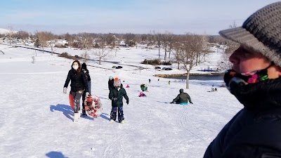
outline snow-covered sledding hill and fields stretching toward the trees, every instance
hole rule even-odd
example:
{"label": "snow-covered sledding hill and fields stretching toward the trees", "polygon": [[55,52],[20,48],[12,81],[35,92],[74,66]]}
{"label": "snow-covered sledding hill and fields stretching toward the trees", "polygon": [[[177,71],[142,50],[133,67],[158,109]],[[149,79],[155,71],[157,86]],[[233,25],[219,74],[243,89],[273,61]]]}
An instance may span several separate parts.
{"label": "snow-covered sledding hill and fields stretching toward the trees", "polygon": [[[203,157],[207,145],[242,108],[226,88],[218,87],[223,81],[192,80],[185,92],[194,104],[169,104],[185,82],[153,77],[158,73],[153,67],[136,70],[126,66],[139,66],[145,58],[157,58],[157,50],[122,48],[117,57],[112,54],[108,60],[122,60],[124,69],[89,67],[91,91],[102,101],[103,114],[96,119],[81,117],[74,123],[68,95],[63,93],[72,60],[37,51],[32,64],[34,50],[4,45],[0,50],[4,52],[0,53],[1,157]],[[67,53],[82,53],[70,50]],[[89,65],[112,67],[109,62]],[[125,88],[130,100],[129,105],[124,104],[125,124],[109,121],[110,75],[130,86]],[[148,84],[148,79],[152,80],[148,97],[138,98],[140,84]],[[171,85],[167,84],[169,80]],[[211,85],[218,91],[207,92]]]}

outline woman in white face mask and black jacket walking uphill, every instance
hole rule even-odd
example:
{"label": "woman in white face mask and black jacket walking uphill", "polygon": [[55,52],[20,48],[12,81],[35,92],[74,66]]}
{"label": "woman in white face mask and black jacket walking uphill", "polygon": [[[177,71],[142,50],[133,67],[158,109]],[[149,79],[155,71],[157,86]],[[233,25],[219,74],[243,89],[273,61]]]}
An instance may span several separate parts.
{"label": "woman in white face mask and black jacket walking uphill", "polygon": [[86,96],[89,96],[89,88],[86,81],[84,72],[81,70],[81,65],[78,60],[72,62],[72,68],[67,74],[67,79],[65,80],[65,86],[63,87],[63,93],[67,93],[67,86],[71,81],[70,93],[74,98],[74,121],[79,118],[80,110],[80,99],[84,91],[86,91]]}

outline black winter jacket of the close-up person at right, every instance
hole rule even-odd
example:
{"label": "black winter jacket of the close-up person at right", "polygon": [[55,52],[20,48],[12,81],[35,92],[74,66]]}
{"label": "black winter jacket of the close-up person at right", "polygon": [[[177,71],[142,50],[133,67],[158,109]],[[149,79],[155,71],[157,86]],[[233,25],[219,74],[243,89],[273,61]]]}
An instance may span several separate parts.
{"label": "black winter jacket of the close-up person at right", "polygon": [[204,158],[281,157],[281,79],[230,88],[244,108],[218,133]]}

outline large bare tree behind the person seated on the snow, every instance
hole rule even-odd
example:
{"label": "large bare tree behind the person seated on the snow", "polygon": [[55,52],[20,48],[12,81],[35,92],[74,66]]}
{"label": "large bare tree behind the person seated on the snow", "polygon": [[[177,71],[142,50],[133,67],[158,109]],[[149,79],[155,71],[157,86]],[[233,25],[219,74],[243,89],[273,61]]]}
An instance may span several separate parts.
{"label": "large bare tree behind the person seated on the snow", "polygon": [[190,70],[197,63],[197,54],[202,52],[203,44],[199,37],[197,34],[185,34],[180,48],[176,49],[176,53],[174,53],[176,60],[183,64],[183,68],[187,72],[186,88],[189,88]]}

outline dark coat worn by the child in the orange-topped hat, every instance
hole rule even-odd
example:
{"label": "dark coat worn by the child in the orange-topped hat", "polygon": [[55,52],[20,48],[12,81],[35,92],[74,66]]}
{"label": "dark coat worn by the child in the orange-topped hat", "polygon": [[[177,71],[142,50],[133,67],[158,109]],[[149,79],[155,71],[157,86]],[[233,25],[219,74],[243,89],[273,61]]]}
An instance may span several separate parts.
{"label": "dark coat worn by the child in the orange-topped hat", "polygon": [[[121,84],[119,91],[117,88],[113,88],[109,95],[110,100],[112,100],[112,107],[122,107],[123,97],[126,99],[126,103],[129,104],[129,98],[123,85]],[[113,98],[117,98],[117,100],[113,100]]]}

